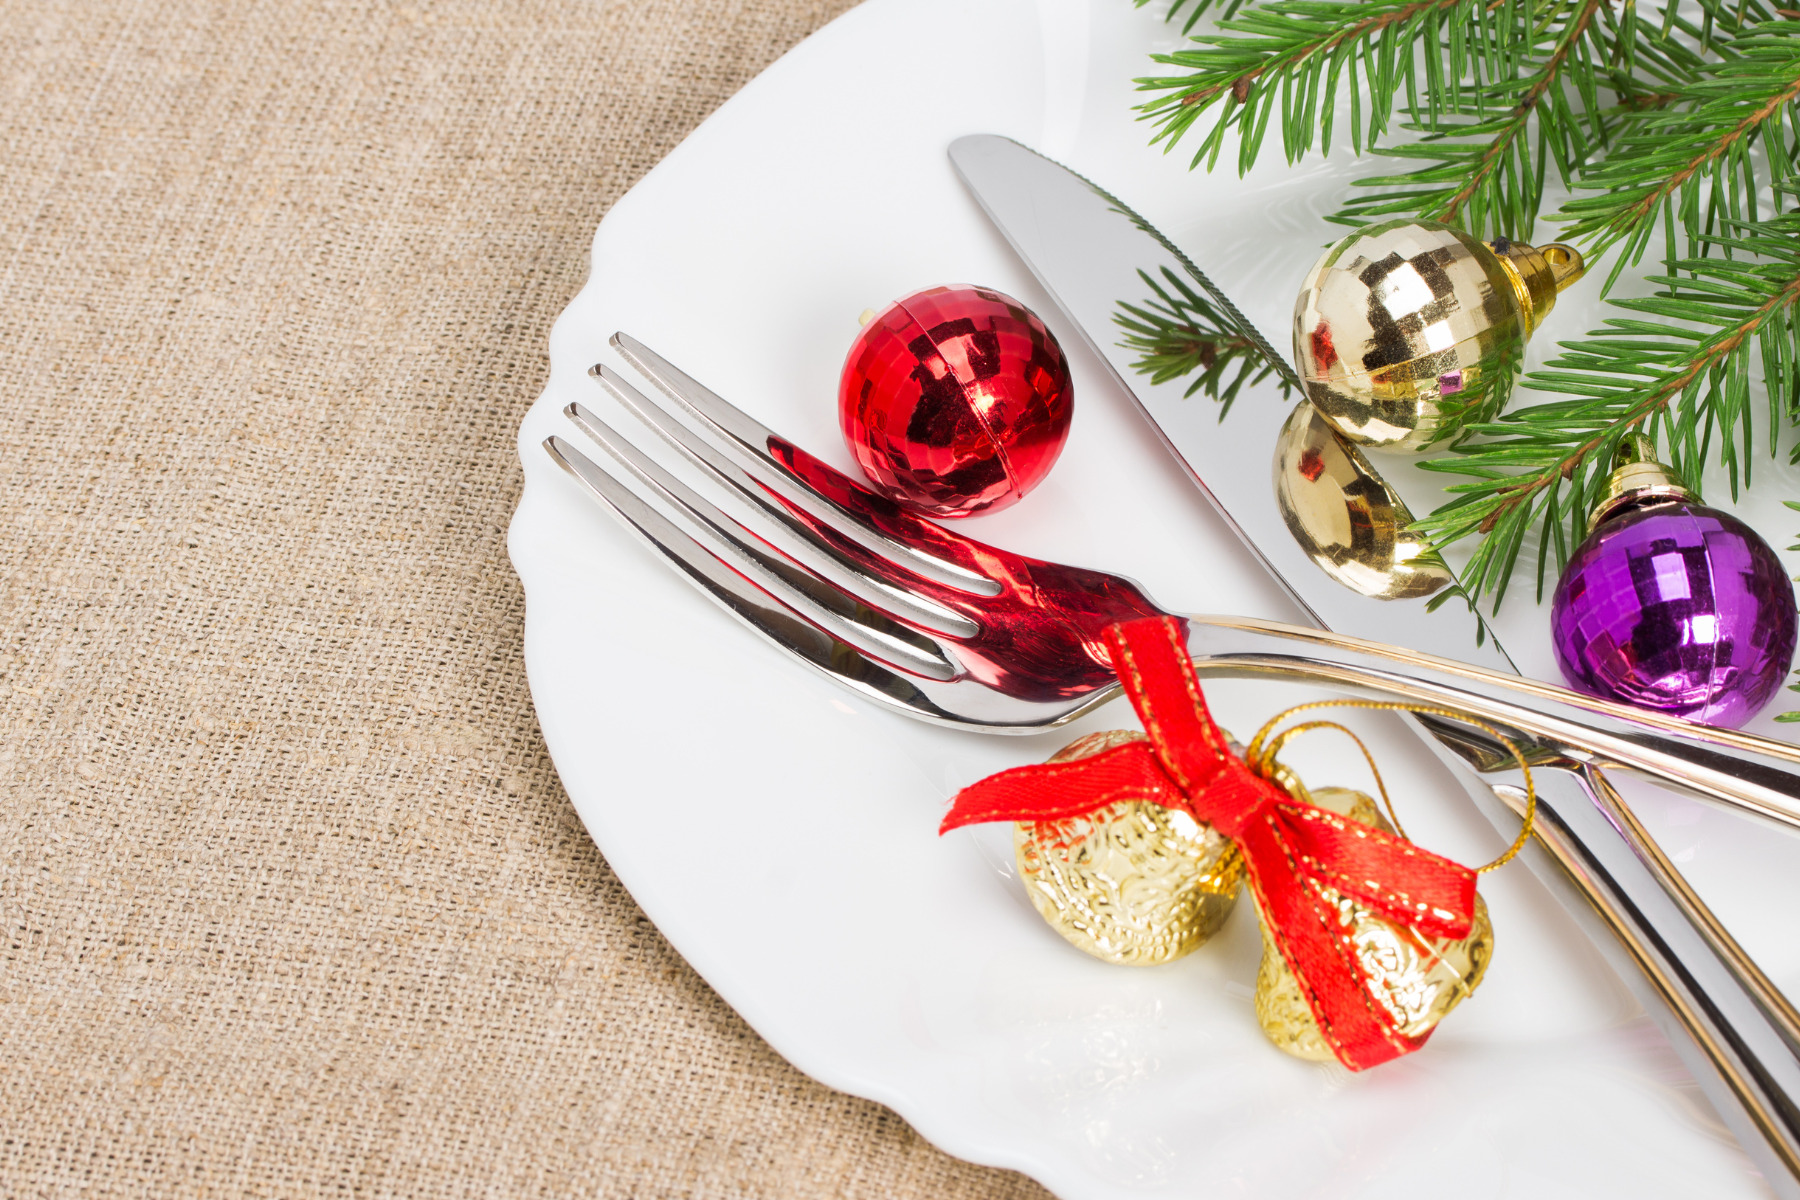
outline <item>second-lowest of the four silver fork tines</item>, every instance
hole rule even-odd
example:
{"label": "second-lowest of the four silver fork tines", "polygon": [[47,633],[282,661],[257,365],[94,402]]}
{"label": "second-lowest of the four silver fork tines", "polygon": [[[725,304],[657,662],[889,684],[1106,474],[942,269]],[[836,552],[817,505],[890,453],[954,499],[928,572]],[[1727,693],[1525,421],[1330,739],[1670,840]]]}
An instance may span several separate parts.
{"label": "second-lowest of the four silver fork tines", "polygon": [[[684,482],[664,471],[643,455],[634,444],[621,437],[612,426],[583,414],[583,430],[599,446],[619,461],[628,471],[637,475],[666,509],[677,513],[689,525],[693,540],[709,554],[724,561],[738,574],[747,576],[760,588],[778,597],[788,608],[799,612],[812,624],[830,631],[833,637],[850,642],[857,649],[891,666],[925,678],[949,680],[959,673],[959,664],[929,633],[913,630],[889,619],[857,597],[796,567],[794,563],[751,545],[738,536],[725,513],[688,488]],[[578,450],[567,443],[549,448],[565,466],[572,462]],[[594,471],[599,466],[589,462]],[[572,470],[572,466],[571,466]],[[578,475],[583,482],[587,473]]]}

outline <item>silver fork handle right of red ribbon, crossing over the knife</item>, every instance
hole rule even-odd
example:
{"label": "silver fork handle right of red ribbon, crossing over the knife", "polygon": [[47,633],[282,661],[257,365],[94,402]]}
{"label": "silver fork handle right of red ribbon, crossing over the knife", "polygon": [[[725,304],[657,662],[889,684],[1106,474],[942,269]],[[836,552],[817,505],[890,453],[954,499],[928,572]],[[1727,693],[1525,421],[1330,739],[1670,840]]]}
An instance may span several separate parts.
{"label": "silver fork handle right of red ribbon, crossing over the knife", "polygon": [[[1188,617],[1188,649],[1202,673],[1305,678],[1469,712],[1517,730],[1537,752],[1633,770],[1676,792],[1800,829],[1800,748],[1784,741],[1274,621]],[[1463,756],[1483,770],[1503,766],[1481,741],[1462,738]]]}

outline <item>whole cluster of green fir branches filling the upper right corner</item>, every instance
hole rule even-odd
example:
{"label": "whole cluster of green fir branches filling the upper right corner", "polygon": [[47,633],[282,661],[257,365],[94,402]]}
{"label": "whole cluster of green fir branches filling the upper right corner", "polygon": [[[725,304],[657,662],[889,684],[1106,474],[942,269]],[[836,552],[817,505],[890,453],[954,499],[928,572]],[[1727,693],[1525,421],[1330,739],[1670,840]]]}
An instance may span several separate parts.
{"label": "whole cluster of green fir branches filling the upper right corner", "polygon": [[[1145,0],[1138,0],[1143,4]],[[1177,0],[1193,29],[1215,0]],[[1593,266],[1661,241],[1654,295],[1525,380],[1559,396],[1469,426],[1424,466],[1454,473],[1418,522],[1438,547],[1478,538],[1463,583],[1498,604],[1534,533],[1543,594],[1633,430],[1678,473],[1717,459],[1750,480],[1759,435],[1800,423],[1800,13],[1766,0],[1642,9],[1629,0],[1229,0],[1215,29],[1138,81],[1154,144],[1193,139],[1211,169],[1228,135],[1247,171],[1273,133],[1292,162],[1328,153],[1339,95],[1350,144],[1409,169],[1361,180],[1330,219],[1422,216],[1530,239],[1548,173],[1573,193],[1550,219]],[[1688,16],[1692,14],[1692,16]],[[1210,126],[1201,119],[1213,113]],[[1148,358],[1147,358],[1148,362]],[[1174,358],[1154,369],[1170,371]],[[1751,421],[1751,385],[1769,423]],[[1773,453],[1773,450],[1771,450]]]}

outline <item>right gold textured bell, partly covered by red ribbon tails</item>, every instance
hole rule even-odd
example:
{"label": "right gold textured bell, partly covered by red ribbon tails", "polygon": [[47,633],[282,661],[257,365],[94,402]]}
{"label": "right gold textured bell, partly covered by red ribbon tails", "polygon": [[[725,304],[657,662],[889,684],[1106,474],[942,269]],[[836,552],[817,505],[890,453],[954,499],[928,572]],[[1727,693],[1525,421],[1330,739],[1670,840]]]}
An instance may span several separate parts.
{"label": "right gold textured bell, partly covered by red ribbon tails", "polygon": [[[1298,799],[1327,808],[1352,820],[1393,833],[1375,801],[1350,788],[1305,792],[1291,775],[1282,779]],[[1298,790],[1296,790],[1298,788]],[[1363,905],[1325,889],[1325,901],[1337,910],[1343,936],[1355,946],[1368,975],[1370,997],[1388,1009],[1395,1031],[1417,1038],[1431,1031],[1481,982],[1494,957],[1494,927],[1487,903],[1476,896],[1474,927],[1462,939],[1422,937],[1386,921]],[[1258,912],[1258,918],[1262,914]],[[1287,970],[1282,952],[1269,941],[1269,923],[1262,925],[1262,968],[1256,972],[1256,1022],[1274,1045],[1294,1058],[1336,1061],[1325,1043],[1300,982]]]}

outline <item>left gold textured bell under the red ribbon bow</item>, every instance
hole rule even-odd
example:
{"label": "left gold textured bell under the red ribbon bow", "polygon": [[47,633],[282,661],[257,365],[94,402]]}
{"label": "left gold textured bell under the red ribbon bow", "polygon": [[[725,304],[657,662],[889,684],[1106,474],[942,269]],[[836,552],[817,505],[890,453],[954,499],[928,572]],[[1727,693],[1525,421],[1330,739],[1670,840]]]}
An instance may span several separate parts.
{"label": "left gold textured bell under the red ribbon bow", "polygon": [[[1089,734],[1051,763],[1145,741]],[[1156,966],[1197,950],[1237,903],[1244,860],[1228,837],[1188,813],[1118,801],[1085,817],[1013,822],[1019,878],[1039,914],[1107,963]]]}

